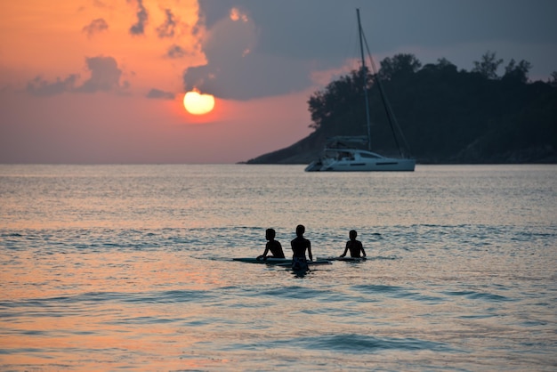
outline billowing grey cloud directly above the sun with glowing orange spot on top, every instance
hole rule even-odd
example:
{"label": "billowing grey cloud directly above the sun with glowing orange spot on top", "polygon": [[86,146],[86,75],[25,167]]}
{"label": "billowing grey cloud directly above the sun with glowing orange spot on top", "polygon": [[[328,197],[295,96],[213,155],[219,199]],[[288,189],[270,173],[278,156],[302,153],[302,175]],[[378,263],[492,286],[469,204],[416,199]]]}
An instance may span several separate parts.
{"label": "billowing grey cloud directly above the sun with glowing orange spot on top", "polygon": [[[259,29],[247,12],[230,8],[203,43],[208,63],[186,69],[186,91],[235,100],[295,92],[310,84],[307,69],[285,56],[257,53]],[[302,63],[303,64],[303,63]]]}

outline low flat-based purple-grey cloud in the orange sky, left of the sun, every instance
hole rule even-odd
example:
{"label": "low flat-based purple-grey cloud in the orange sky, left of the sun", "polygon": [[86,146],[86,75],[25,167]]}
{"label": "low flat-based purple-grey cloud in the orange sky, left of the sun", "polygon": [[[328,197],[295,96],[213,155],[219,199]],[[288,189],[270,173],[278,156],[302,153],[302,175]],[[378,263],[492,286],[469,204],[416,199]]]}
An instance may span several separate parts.
{"label": "low flat-based purple-grey cloud in the orange sky, left of the sun", "polygon": [[26,92],[35,96],[49,96],[61,93],[122,93],[129,87],[127,81],[120,82],[122,70],[118,69],[117,61],[114,58],[86,58],[85,63],[87,69],[91,72],[91,77],[85,80],[82,85],[77,85],[79,78],[77,74],[70,74],[64,79],[58,77],[52,83],[44,80],[42,77],[35,77],[28,82]]}

